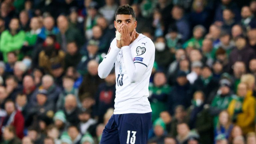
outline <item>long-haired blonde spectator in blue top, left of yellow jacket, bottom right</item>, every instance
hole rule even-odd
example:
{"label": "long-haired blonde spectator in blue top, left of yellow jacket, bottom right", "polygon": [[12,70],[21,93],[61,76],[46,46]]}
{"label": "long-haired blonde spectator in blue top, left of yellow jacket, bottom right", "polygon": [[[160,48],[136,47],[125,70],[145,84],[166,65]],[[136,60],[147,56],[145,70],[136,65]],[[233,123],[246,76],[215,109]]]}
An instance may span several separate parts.
{"label": "long-haired blonde spectator in blue top, left of yellow jacket, bottom right", "polygon": [[233,124],[231,122],[230,115],[228,111],[223,110],[219,114],[219,121],[217,126],[214,128],[214,138],[215,142],[219,135],[223,135],[225,139],[228,139],[231,136],[231,130],[233,129]]}

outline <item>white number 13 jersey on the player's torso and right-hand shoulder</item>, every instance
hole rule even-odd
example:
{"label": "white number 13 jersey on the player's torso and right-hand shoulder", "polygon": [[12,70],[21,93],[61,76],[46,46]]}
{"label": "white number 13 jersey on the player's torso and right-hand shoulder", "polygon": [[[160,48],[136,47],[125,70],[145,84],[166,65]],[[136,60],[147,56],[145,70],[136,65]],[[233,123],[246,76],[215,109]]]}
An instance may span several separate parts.
{"label": "white number 13 jersey on the player's torso and right-hand shoulder", "polygon": [[[111,42],[110,47],[115,46],[116,39]],[[115,61],[116,98],[114,114],[148,113],[152,111],[148,101],[148,85],[155,59],[155,46],[150,38],[139,34],[129,47],[134,64],[138,63],[140,67],[146,67],[146,71],[139,81],[131,83],[128,80],[123,51],[120,50]]]}

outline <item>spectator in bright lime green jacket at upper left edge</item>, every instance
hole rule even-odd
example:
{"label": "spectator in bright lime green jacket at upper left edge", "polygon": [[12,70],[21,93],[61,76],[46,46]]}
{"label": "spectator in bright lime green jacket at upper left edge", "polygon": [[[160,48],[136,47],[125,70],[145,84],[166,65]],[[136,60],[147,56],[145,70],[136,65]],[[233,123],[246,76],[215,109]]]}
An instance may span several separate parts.
{"label": "spectator in bright lime green jacket at upper left edge", "polygon": [[3,53],[4,61],[7,62],[7,53],[19,51],[24,44],[25,32],[19,30],[19,19],[13,18],[0,37],[0,51]]}

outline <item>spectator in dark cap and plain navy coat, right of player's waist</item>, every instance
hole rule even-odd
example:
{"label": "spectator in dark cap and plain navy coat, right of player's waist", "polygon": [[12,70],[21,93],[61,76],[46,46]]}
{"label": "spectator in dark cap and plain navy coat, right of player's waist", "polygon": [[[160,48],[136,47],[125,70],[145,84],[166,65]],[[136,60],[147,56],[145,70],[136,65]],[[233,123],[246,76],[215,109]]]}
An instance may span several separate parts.
{"label": "spectator in dark cap and plain navy coat, right of player's waist", "polygon": [[174,109],[178,105],[183,105],[185,108],[190,106],[191,85],[187,80],[187,74],[184,71],[178,71],[175,85],[173,86],[170,96],[168,97],[169,112],[174,113]]}

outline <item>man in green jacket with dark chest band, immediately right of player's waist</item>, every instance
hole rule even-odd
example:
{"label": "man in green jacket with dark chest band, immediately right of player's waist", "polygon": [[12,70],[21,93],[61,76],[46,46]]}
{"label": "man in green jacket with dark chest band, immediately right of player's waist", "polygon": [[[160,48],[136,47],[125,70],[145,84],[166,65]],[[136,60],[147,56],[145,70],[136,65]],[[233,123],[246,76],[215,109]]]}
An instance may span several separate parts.
{"label": "man in green jacket with dark chest band, immediately right of player's waist", "polygon": [[170,93],[170,86],[166,84],[163,72],[154,75],[154,83],[149,83],[149,101],[152,109],[152,121],[155,121],[162,111],[167,110],[166,100]]}

